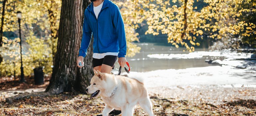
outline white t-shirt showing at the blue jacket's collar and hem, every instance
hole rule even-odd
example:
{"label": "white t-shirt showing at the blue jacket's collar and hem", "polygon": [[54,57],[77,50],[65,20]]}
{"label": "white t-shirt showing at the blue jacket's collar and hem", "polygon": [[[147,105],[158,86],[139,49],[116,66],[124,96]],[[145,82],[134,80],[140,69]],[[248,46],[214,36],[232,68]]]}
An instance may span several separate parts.
{"label": "white t-shirt showing at the blue jacket's collar and hem", "polygon": [[[99,12],[100,12],[102,6],[103,6],[103,2],[99,6],[96,6],[96,7],[93,6],[93,11],[96,16],[96,19],[98,19],[98,15],[99,15]],[[101,59],[101,58],[104,58],[106,55],[118,56],[118,52],[93,53],[92,57],[96,58],[96,59]]]}

